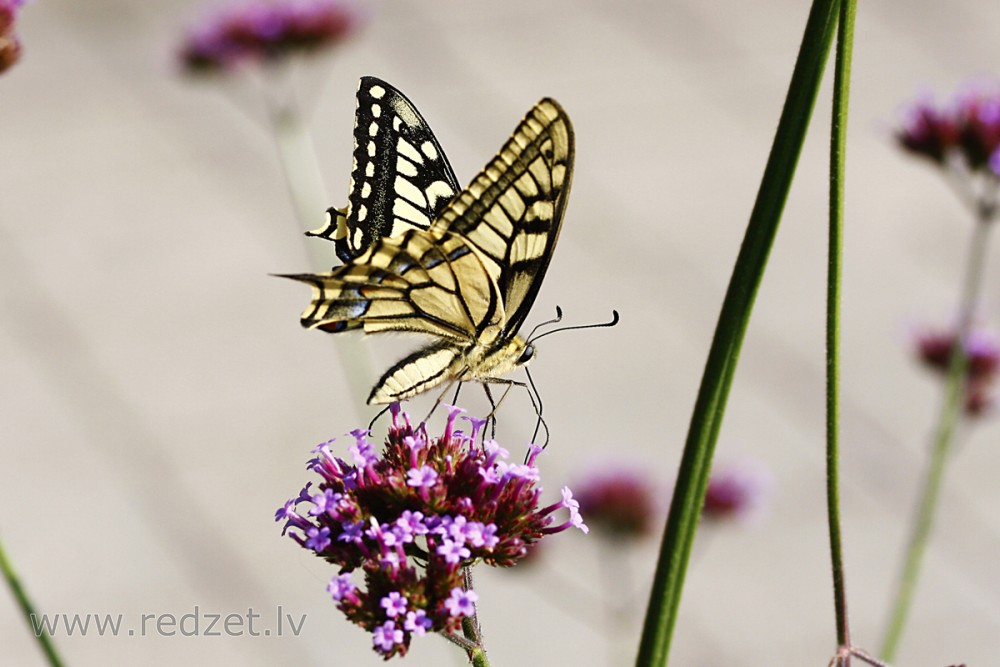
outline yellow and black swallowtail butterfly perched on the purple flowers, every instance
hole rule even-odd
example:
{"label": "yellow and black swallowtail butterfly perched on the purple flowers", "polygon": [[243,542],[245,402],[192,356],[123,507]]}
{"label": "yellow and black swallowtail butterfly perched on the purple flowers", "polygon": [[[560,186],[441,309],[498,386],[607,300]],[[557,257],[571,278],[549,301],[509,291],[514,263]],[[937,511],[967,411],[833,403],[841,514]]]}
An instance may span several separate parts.
{"label": "yellow and black swallowtail butterfly perched on the purple flowers", "polygon": [[[566,211],[574,157],[570,119],[555,100],[542,99],[464,190],[443,202],[420,199],[403,183],[424,186],[425,194],[443,192],[434,184],[449,183],[451,167],[419,114],[403,131],[405,114],[399,110],[415,109],[398,91],[375,81],[362,80],[358,118],[381,118],[381,111],[362,113],[361,107],[362,99],[384,99],[378,87],[397,102],[400,123],[371,126],[370,136],[377,139],[374,148],[355,150],[355,158],[362,159],[353,172],[347,212],[331,216],[346,231],[340,248],[360,252],[329,273],[286,276],[313,288],[302,325],[330,333],[361,329],[430,336],[428,344],[386,371],[369,404],[401,401],[456,381],[512,384],[501,376],[535,354],[518,330],[541,287]],[[379,138],[387,127],[392,136]],[[356,130],[355,138],[363,134]],[[424,151],[425,144],[415,147],[427,160],[401,148],[413,147],[412,137],[433,146],[434,151]],[[375,164],[365,156],[374,151],[378,157],[380,147],[378,164],[389,173],[365,171]],[[409,162],[403,164],[403,158]],[[421,215],[397,215],[412,213],[403,201]],[[367,202],[377,204],[369,208]],[[368,217],[362,207],[378,212]]]}

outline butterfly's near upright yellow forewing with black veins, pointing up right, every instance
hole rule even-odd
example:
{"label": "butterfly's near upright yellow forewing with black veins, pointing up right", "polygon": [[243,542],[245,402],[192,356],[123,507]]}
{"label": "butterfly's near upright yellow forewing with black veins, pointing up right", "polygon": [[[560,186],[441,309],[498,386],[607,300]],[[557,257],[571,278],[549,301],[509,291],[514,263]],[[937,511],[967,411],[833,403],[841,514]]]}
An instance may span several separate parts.
{"label": "butterfly's near upright yellow forewing with black veins, pointing up right", "polygon": [[[469,186],[444,208],[432,234],[456,234],[484,256],[504,311],[501,340],[514,336],[541,287],[566,210],[574,136],[555,100],[543,99]],[[489,318],[488,318],[489,319]]]}

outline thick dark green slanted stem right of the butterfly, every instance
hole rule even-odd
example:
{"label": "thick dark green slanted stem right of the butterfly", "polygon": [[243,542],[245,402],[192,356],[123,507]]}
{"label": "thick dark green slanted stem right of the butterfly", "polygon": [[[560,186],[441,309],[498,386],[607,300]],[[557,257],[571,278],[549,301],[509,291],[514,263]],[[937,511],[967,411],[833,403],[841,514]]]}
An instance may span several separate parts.
{"label": "thick dark green slanted stem right of the butterfly", "polygon": [[729,281],[691,415],[636,665],[667,664],[684,575],[705,499],[726,399],[754,298],[809,127],[839,8],[838,0],[813,0],[778,130]]}

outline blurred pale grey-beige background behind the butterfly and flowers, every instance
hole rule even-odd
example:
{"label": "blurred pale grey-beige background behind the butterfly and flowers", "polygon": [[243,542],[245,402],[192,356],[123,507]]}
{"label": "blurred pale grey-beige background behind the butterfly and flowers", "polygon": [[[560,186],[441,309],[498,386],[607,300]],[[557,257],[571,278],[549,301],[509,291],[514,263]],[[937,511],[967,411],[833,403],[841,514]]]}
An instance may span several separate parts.
{"label": "blurred pale grey-beige background behind the butterfly and flowers", "polygon": [[[618,308],[622,323],[542,345],[549,492],[607,460],[673,478],[807,5],[386,2],[311,71],[330,204],[346,196],[362,74],[414,99],[463,181],[539,97],[571,114],[573,196],[531,322],[558,303],[573,322]],[[70,664],[379,664],[327,599],[330,568],[271,520],[306,481],[308,450],[360,422],[335,341],[298,326],[307,290],[268,276],[309,259],[259,109],[173,71],[180,30],[205,6],[36,0],[19,21],[24,61],[0,78],[0,531],[46,611],[122,613],[126,626],[195,605],[308,614],[302,636],[281,640],[63,637]],[[908,356],[908,331],[950,317],[969,231],[941,179],[889,135],[919,91],[995,73],[1000,5],[873,0],[857,25],[843,500],[855,637],[875,649],[939,398]],[[822,487],[828,91],[718,451],[771,471],[769,508],[700,536],[673,664],[825,665],[834,648]],[[993,323],[996,275],[982,302]],[[399,349],[361,346],[377,367]],[[514,405],[509,414],[528,414]],[[517,448],[528,425],[510,421],[502,436]],[[996,664],[998,432],[993,420],[962,439],[900,664]],[[494,664],[628,664],[631,633],[609,641],[605,611],[570,592],[600,590],[594,540],[551,542],[531,572],[480,575]],[[631,561],[639,591],[654,553]],[[611,576],[632,599],[628,578]],[[0,599],[0,663],[41,664]],[[634,600],[641,615],[644,594]],[[428,638],[409,660],[461,664],[455,653]]]}

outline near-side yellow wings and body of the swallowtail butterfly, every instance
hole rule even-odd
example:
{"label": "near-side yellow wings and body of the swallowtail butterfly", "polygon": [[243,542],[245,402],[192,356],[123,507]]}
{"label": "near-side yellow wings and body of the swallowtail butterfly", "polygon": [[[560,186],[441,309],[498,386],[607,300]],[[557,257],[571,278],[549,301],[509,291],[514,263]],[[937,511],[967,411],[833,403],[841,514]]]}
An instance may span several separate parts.
{"label": "near-side yellow wings and body of the swallowtail butterfly", "polygon": [[559,235],[572,166],[569,118],[542,100],[429,229],[375,239],[331,273],[288,276],[313,287],[303,326],[435,339],[390,368],[369,403],[509,370],[520,354],[509,344]]}

